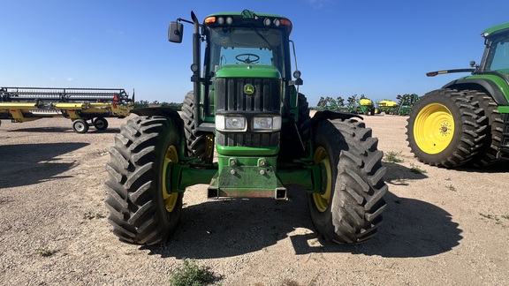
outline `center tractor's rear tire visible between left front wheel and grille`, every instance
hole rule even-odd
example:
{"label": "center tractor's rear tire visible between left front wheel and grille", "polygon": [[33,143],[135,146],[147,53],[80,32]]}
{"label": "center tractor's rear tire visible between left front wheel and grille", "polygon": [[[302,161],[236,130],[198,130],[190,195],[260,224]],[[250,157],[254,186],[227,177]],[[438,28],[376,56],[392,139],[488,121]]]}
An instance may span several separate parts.
{"label": "center tractor's rear tire visible between left front wheel and grille", "polygon": [[182,104],[182,119],[184,120],[184,132],[186,133],[187,155],[199,158],[201,162],[212,163],[214,160],[214,135],[196,135],[194,126],[194,93],[189,92]]}

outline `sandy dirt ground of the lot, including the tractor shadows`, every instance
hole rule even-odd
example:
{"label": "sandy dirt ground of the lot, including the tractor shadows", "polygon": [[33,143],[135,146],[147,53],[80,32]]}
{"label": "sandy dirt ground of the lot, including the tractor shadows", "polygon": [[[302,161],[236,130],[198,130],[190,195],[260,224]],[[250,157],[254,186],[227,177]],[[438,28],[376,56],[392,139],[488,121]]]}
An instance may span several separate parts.
{"label": "sandy dirt ground of the lot, including the tractor shadows", "polygon": [[[0,284],[168,285],[185,258],[223,285],[507,285],[509,163],[438,169],[417,162],[406,117],[365,117],[384,162],[388,208],[362,245],[318,239],[303,189],[289,200],[206,198],[186,191],[165,245],[127,245],[105,215],[104,169],[125,119],[72,132],[67,119],[0,126]],[[422,169],[414,173],[412,168]]]}

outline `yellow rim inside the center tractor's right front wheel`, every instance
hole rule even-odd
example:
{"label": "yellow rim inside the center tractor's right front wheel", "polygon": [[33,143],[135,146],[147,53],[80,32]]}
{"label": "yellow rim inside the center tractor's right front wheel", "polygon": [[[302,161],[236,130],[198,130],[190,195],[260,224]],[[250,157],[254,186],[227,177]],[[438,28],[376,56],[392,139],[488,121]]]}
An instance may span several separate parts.
{"label": "yellow rim inside the center tractor's right front wheel", "polygon": [[316,209],[323,213],[329,207],[330,192],[332,191],[332,172],[330,171],[329,154],[323,147],[317,147],[315,155],[313,156],[315,164],[320,165],[322,173],[322,190],[325,192],[313,193],[313,201],[315,202]]}

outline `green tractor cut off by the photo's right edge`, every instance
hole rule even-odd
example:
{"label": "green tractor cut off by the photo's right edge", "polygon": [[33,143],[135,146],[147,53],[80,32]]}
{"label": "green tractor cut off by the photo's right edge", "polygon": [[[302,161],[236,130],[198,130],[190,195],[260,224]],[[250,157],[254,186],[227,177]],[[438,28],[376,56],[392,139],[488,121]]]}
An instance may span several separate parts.
{"label": "green tractor cut off by the photo's right edge", "polygon": [[420,161],[453,168],[484,167],[509,158],[509,23],[482,32],[484,54],[472,68],[432,71],[429,77],[471,72],[415,103],[407,125]]}

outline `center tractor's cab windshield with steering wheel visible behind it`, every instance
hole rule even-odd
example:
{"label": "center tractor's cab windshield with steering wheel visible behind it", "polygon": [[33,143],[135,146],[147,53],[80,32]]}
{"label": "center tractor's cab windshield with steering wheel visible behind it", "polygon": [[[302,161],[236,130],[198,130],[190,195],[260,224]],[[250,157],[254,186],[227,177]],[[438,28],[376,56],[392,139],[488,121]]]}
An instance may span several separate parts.
{"label": "center tractor's cab windshield with steering wheel visible behind it", "polygon": [[283,31],[249,26],[211,27],[209,33],[212,72],[225,64],[272,65],[285,74]]}

